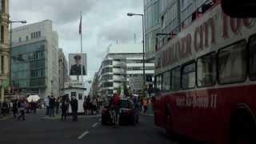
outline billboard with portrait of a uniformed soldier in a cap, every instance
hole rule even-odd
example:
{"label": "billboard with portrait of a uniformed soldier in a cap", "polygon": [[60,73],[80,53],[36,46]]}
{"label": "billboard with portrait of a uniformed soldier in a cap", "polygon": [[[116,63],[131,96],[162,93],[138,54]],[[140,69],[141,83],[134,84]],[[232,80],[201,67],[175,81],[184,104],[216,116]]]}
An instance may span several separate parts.
{"label": "billboard with portrait of a uniformed soldier in a cap", "polygon": [[86,54],[69,54],[69,74],[70,75],[86,75],[87,74],[86,59],[87,59]]}

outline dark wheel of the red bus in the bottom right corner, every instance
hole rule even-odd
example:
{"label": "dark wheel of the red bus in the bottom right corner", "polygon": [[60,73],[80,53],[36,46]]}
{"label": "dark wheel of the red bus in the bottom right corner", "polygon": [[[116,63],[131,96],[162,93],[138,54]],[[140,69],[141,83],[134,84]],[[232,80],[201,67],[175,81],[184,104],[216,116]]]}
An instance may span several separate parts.
{"label": "dark wheel of the red bus in the bottom right corner", "polygon": [[252,115],[246,110],[239,110],[231,117],[230,143],[231,144],[253,144],[256,143],[256,126]]}

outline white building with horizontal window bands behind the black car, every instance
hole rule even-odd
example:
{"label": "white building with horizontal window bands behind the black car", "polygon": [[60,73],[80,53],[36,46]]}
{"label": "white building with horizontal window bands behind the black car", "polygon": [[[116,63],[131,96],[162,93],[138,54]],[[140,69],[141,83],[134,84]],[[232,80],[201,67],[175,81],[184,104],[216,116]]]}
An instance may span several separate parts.
{"label": "white building with horizontal window bands behind the black car", "polygon": [[[110,46],[100,69],[98,87],[102,96],[112,96],[124,85],[130,93],[139,94],[142,81],[136,87],[130,85],[131,78],[143,77],[142,44],[117,44]],[[145,74],[154,76],[154,61],[145,62]],[[138,88],[139,87],[139,88]]]}

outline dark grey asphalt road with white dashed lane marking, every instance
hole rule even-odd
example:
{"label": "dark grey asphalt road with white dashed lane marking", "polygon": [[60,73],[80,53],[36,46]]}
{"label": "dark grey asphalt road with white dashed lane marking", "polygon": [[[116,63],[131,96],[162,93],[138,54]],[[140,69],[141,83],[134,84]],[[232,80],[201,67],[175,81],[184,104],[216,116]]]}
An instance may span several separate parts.
{"label": "dark grey asphalt road with white dashed lane marking", "polygon": [[138,126],[102,126],[99,117],[78,117],[78,122],[62,122],[59,118],[44,118],[26,114],[26,121],[9,118],[0,121],[0,143],[3,144],[176,144],[162,129],[154,126],[154,118],[140,116]]}

